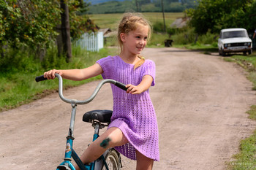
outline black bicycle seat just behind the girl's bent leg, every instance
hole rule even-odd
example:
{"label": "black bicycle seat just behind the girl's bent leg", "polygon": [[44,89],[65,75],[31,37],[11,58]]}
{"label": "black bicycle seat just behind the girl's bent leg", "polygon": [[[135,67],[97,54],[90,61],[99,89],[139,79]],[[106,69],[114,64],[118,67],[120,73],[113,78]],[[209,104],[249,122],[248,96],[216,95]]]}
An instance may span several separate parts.
{"label": "black bicycle seat just behind the girl's bent leg", "polygon": [[108,109],[91,110],[83,115],[83,122],[91,123],[92,120],[98,120],[101,123],[110,123],[112,112],[112,110]]}

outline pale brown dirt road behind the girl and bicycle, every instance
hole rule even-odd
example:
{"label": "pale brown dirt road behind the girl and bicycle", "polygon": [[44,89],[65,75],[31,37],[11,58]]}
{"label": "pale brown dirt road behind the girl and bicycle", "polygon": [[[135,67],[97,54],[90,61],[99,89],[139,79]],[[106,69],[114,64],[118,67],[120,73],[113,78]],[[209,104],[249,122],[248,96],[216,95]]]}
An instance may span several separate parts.
{"label": "pale brown dirt road behind the girl and bicycle", "polygon": [[[256,128],[246,110],[255,104],[252,84],[235,63],[216,55],[176,48],[146,49],[157,65],[151,99],[159,124],[160,161],[154,169],[226,169],[241,139]],[[56,80],[57,81],[57,80]],[[89,96],[98,82],[64,90],[67,98]],[[111,109],[110,86],[91,104],[78,107],[75,150],[91,142],[93,128],[82,122],[84,112]],[[58,94],[0,113],[0,169],[56,169],[64,157],[70,105]],[[123,170],[135,161],[123,158]]]}

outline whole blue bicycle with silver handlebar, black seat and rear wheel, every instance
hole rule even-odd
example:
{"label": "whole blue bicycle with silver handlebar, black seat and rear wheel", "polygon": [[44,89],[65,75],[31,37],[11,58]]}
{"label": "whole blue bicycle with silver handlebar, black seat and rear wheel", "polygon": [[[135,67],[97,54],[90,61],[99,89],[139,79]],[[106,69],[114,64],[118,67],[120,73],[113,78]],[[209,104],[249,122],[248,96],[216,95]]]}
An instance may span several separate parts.
{"label": "whole blue bicycle with silver handlebar, black seat and rear wheel", "polygon": [[[59,74],[55,74],[56,77],[59,79],[59,97],[62,101],[71,104],[72,106],[72,112],[71,112],[71,119],[70,119],[70,125],[69,125],[69,131],[67,136],[67,144],[65,149],[65,156],[64,161],[59,164],[56,170],[75,170],[75,167],[71,163],[72,159],[75,161],[75,163],[78,164],[79,168],[81,170],[119,170],[121,169],[121,156],[120,153],[117,152],[114,148],[110,148],[106,150],[103,155],[101,155],[96,161],[84,165],[82,161],[80,161],[80,158],[76,154],[75,150],[73,150],[73,142],[74,142],[74,124],[75,124],[75,114],[76,114],[76,108],[78,104],[88,104],[91,102],[95,96],[97,96],[97,93],[99,92],[100,88],[102,88],[102,85],[105,83],[111,83],[113,85],[116,85],[118,88],[121,88],[123,90],[127,90],[124,84],[121,82],[117,82],[116,80],[102,80],[97,85],[97,88],[95,88],[94,92],[91,94],[89,98],[83,101],[79,101],[76,99],[68,99],[63,96],[63,81],[62,77]],[[36,81],[43,81],[47,80],[43,75],[36,77]],[[93,141],[96,140],[99,137],[99,129],[104,128],[105,126],[108,126],[110,123],[110,118],[112,115],[111,110],[91,110],[89,112],[86,112],[83,115],[83,121],[87,123],[91,123],[91,125],[94,127],[94,136]]]}

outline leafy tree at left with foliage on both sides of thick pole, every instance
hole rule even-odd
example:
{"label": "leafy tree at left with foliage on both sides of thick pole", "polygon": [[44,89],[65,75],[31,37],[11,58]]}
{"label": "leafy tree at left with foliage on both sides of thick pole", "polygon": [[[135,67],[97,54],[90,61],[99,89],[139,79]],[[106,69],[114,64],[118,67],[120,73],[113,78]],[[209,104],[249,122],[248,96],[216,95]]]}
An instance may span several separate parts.
{"label": "leafy tree at left with foliage on both sides of thick pole", "polygon": [[[69,28],[73,39],[84,31],[97,27],[88,16],[80,16],[87,4],[82,0],[69,1]],[[7,47],[31,49],[42,60],[50,42],[59,34],[56,27],[61,23],[60,0],[0,0],[0,53],[4,57]]]}

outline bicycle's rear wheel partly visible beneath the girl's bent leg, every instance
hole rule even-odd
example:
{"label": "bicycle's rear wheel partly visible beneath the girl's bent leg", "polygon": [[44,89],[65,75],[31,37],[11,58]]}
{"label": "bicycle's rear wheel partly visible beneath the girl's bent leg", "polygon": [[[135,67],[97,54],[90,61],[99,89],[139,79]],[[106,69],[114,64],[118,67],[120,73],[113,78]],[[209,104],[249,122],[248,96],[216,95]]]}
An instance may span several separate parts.
{"label": "bicycle's rear wheel partly visible beneath the girl's bent leg", "polygon": [[[121,169],[121,157],[116,150],[114,149],[109,150],[107,155],[105,156],[105,161],[108,165],[109,170]],[[104,164],[102,166],[102,170],[107,170]]]}

